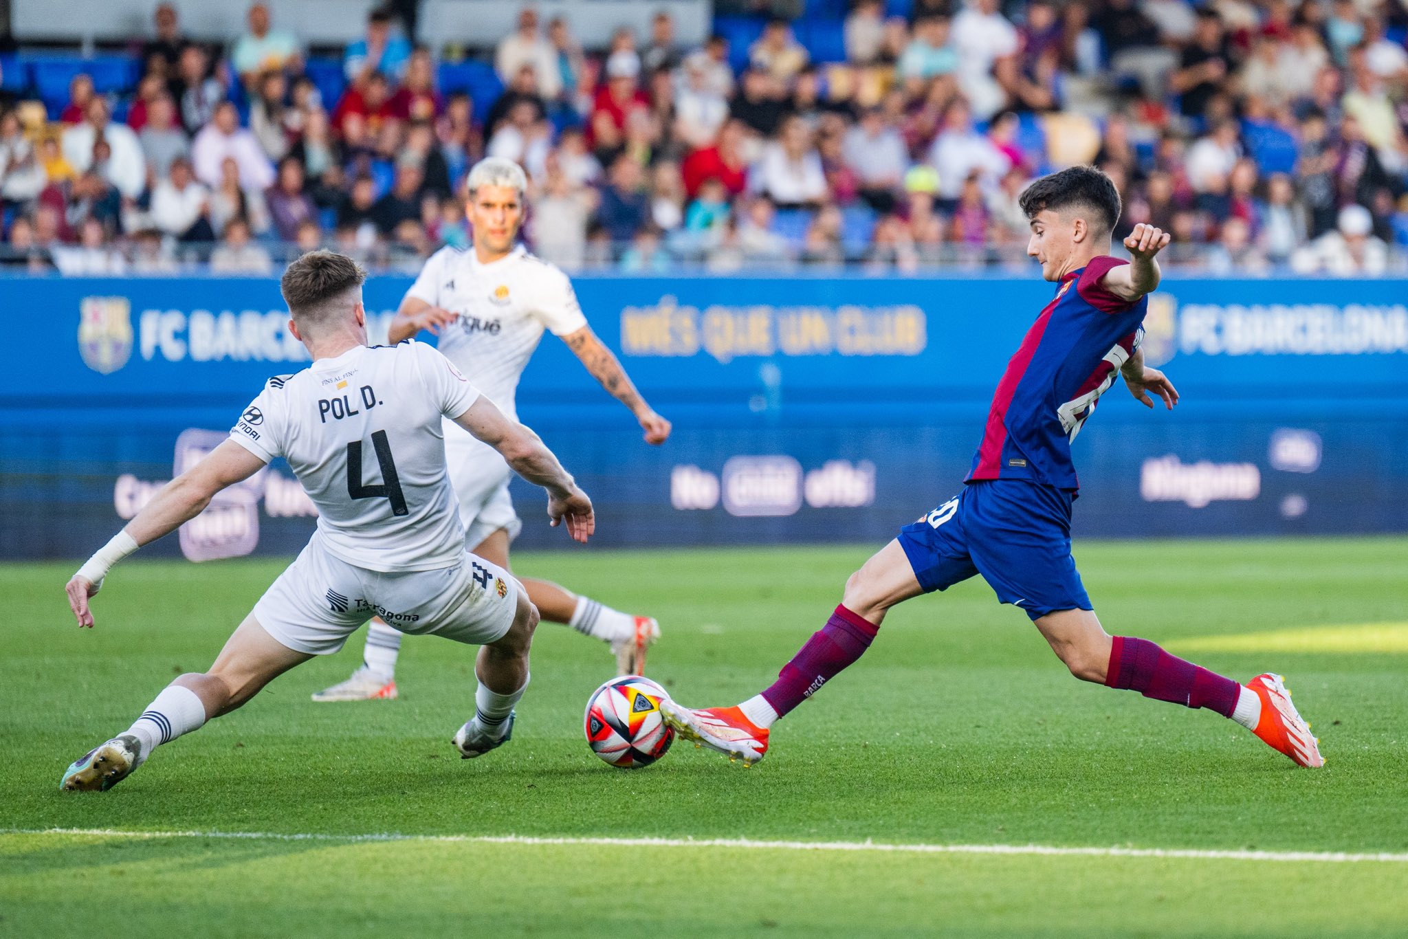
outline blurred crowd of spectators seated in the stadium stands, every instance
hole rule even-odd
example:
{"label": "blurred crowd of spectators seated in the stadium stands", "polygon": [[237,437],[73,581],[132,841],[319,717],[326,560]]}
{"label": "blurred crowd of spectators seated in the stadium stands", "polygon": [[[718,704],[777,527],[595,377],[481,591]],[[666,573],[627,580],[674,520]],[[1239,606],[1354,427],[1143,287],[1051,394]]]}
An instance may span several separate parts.
{"label": "blurred crowd of spectators seated in the stadium stands", "polygon": [[660,11],[591,51],[525,7],[487,96],[439,87],[439,49],[380,10],[328,83],[263,3],[227,48],[163,4],[130,93],[77,73],[62,107],[6,103],[0,260],[417,269],[466,244],[486,155],[525,166],[529,241],[567,269],[1018,263],[1022,187],[1077,162],[1176,265],[1377,273],[1408,244],[1398,3],[855,0],[819,25],[742,3],[700,48]]}

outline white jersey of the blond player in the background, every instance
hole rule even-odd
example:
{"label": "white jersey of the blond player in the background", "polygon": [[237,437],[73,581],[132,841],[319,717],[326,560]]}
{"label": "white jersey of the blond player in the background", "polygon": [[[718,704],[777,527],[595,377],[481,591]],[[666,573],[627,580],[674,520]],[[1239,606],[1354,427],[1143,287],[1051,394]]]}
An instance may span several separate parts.
{"label": "white jersey of the blond player in the background", "polygon": [[459,314],[441,332],[439,351],[515,420],[518,379],[543,329],[560,336],[587,325],[567,275],[522,245],[487,265],[473,248],[441,248],[406,296]]}

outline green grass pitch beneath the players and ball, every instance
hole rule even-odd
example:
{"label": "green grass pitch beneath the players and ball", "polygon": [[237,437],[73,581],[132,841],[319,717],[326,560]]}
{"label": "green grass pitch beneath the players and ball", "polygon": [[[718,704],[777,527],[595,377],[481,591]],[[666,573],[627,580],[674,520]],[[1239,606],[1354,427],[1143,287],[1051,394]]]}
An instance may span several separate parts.
{"label": "green grass pitch beneath the players and ball", "polygon": [[[648,672],[708,705],[766,686],[867,553],[515,566],[659,617]],[[92,632],[63,601],[73,565],[0,567],[0,936],[1408,935],[1401,860],[444,838],[1408,852],[1408,539],[1086,543],[1077,562],[1111,632],[1242,680],[1284,673],[1326,767],[1214,714],[1076,681],[970,581],[891,614],[750,770],[680,743],[646,770],[600,763],[582,708],[610,655],[543,624],[514,741],[484,759],[449,745],[473,707],[463,646],[407,641],[400,701],[313,704],[355,664],[358,634],[113,791],[63,794],[69,760],[204,669],[282,565],[124,563]],[[365,838],[379,833],[436,838]]]}

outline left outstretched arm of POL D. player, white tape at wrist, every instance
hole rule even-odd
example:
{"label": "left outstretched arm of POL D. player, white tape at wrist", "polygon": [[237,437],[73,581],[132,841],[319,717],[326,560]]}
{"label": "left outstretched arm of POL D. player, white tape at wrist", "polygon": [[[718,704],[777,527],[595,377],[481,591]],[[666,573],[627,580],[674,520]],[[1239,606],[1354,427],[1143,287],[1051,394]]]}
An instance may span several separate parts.
{"label": "left outstretched arm of POL D. player, white tape at wrist", "polygon": [[204,511],[215,493],[249,479],[263,467],[262,459],[234,441],[225,441],[213,449],[206,459],[166,483],[142,507],[142,511],[137,512],[137,517],[127,522],[122,531],[89,557],[87,563],[79,567],[79,572],[69,580],[65,593],[69,595],[69,608],[79,625],[93,625],[89,598],[103,586],[103,577],[107,576],[113,565],[142,545],[176,531]]}

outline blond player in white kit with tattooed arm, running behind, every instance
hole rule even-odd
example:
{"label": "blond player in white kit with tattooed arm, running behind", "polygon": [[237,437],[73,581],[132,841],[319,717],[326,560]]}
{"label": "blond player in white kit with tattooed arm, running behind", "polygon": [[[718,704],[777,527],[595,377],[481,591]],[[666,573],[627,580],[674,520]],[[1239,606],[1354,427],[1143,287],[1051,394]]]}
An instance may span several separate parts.
{"label": "blond player in white kit with tattooed arm, running behind", "polygon": [[[517,418],[518,379],[543,331],[551,331],[607,391],[631,408],[645,441],[663,443],[670,422],[650,410],[621,363],[587,325],[567,275],[518,244],[527,186],[522,168],[510,159],[491,156],[474,165],[466,210],[474,244],[467,251],[441,248],[425,262],[391,322],[390,341],[407,339],[421,329],[438,335],[439,351],[505,415]],[[508,543],[522,528],[508,497],[508,466],[493,448],[448,424],[445,459],[459,496],[465,545],[507,569]],[[611,643],[620,674],[639,674],[645,667],[646,649],[660,635],[655,619],[620,612],[546,580],[525,577],[521,583],[543,619]],[[397,697],[400,648],[401,634],[373,619],[362,666],[313,700]]]}

